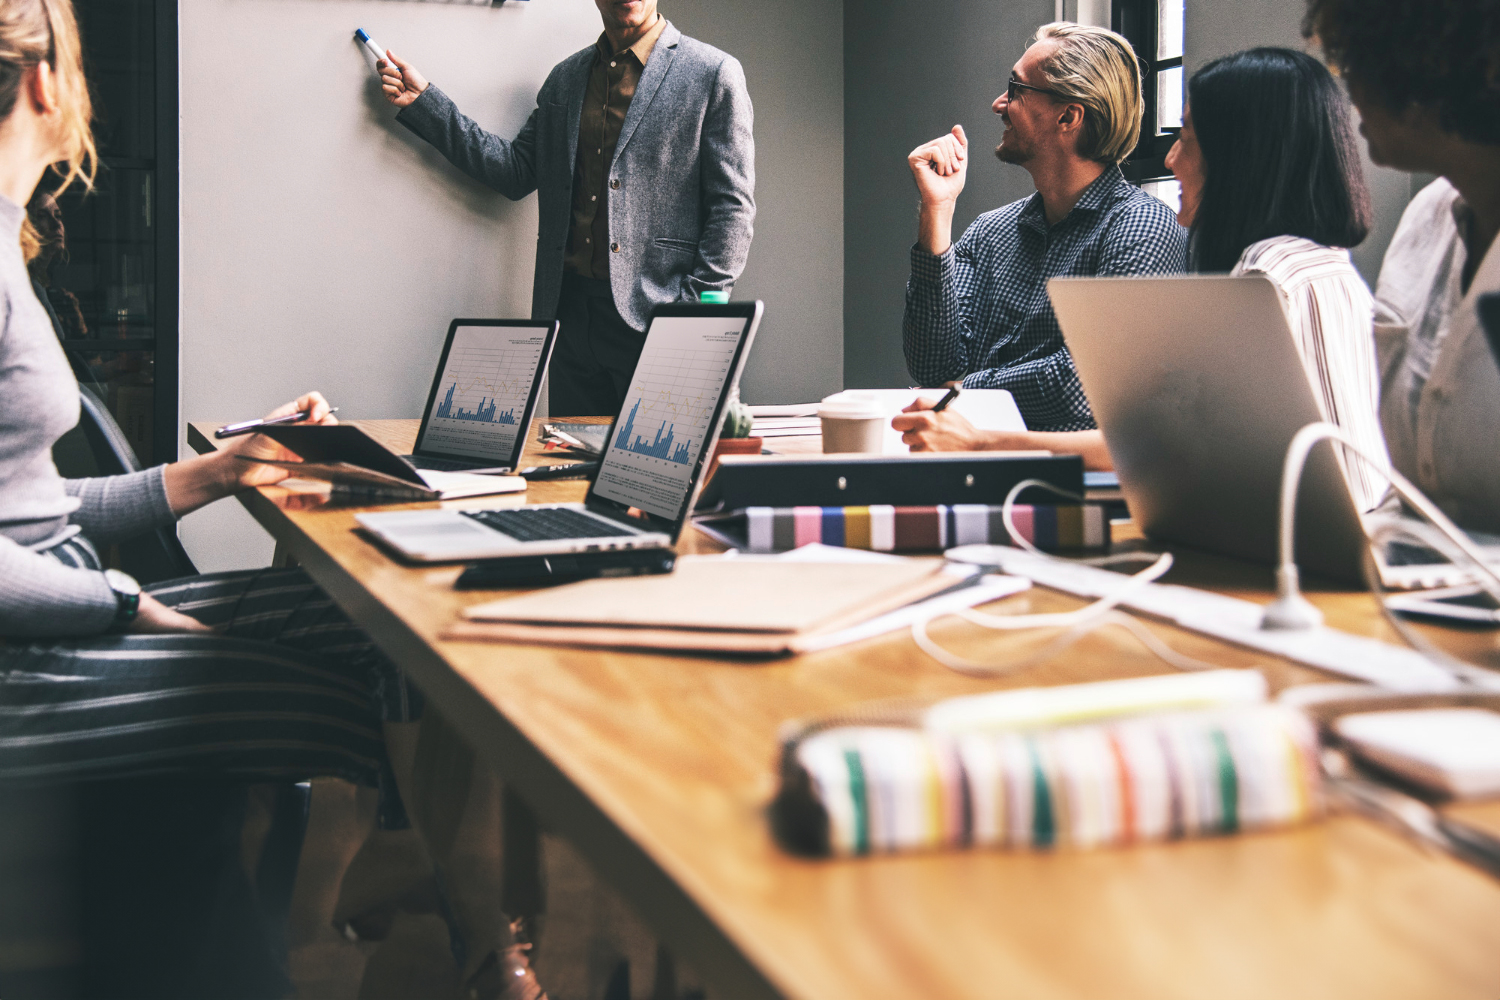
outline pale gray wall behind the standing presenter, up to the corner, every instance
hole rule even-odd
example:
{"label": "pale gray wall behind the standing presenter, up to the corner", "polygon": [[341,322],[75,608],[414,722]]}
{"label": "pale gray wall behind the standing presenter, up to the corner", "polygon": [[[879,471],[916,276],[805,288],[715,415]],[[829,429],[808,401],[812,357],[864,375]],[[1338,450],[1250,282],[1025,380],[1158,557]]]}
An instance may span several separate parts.
{"label": "pale gray wall behind the standing presenter, up to the corner", "polygon": [[[842,6],[663,12],[735,52],[756,105],[760,210],[736,295],[765,298],[768,318],[746,397],[834,391]],[[536,196],[486,190],[398,126],[352,31],[512,135],[546,72],[598,36],[597,9],[194,0],[180,16],[182,414],[232,420],[318,387],[340,417],[416,417],[452,316],[530,313]],[[189,516],[182,534],[204,570],[270,558],[236,504]]]}

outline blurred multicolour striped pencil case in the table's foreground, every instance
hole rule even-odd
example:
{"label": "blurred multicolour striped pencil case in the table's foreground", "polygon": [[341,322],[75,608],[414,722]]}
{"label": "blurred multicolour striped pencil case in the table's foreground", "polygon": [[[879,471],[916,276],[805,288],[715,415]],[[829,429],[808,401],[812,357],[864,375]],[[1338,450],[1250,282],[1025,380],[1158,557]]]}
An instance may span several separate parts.
{"label": "blurred multicolour striped pencil case in the table's foreground", "polygon": [[1323,808],[1317,735],[1276,705],[956,736],[840,727],[794,759],[832,855],[1102,847],[1284,826]]}

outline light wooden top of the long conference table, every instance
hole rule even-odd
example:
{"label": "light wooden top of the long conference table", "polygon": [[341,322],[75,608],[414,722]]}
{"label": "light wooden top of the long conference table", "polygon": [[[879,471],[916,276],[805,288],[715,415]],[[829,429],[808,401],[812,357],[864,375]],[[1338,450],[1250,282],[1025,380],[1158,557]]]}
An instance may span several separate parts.
{"label": "light wooden top of the long conference table", "polygon": [[[417,421],[358,423],[411,450]],[[190,426],[192,447],[213,448],[213,426]],[[537,459],[546,460],[528,460]],[[570,501],[584,490],[537,483],[458,505]],[[458,609],[494,594],[454,592],[456,567],[396,562],[357,534],[358,508],[326,493],[267,487],[242,501],[714,997],[1500,996],[1500,882],[1359,817],[1098,852],[808,861],[772,843],[764,810],[786,720],[872,699],[1167,672],[1122,630],[1002,681],[951,673],[904,633],[762,666],[446,642],[438,636]],[[681,547],[716,549],[692,529]],[[1269,600],[1266,570],[1192,553],[1178,567],[1174,582]],[[1366,595],[1311,597],[1329,624],[1386,634]],[[1078,604],[1038,588],[996,607]],[[1190,655],[1262,667],[1274,688],[1329,679],[1150,627]],[[994,661],[1035,642],[962,622],[934,634]],[[1443,642],[1500,666],[1494,633]],[[1500,828],[1500,805],[1462,814]]]}

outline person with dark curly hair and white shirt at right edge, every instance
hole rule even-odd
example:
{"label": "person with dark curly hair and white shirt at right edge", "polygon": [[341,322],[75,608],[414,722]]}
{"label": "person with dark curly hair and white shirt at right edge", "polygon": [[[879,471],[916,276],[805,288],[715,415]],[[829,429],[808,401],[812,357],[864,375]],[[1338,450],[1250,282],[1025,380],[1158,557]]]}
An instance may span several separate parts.
{"label": "person with dark curly hair and white shirt at right edge", "polygon": [[1390,460],[1460,525],[1500,532],[1500,369],[1476,312],[1500,289],[1500,3],[1310,0],[1370,156],[1431,172],[1376,288]]}

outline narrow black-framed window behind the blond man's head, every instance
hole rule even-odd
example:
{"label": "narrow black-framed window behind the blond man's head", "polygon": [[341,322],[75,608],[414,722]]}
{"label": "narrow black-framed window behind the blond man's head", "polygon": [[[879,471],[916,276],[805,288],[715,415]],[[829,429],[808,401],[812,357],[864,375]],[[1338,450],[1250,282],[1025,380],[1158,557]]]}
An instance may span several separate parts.
{"label": "narrow black-framed window behind the blond man's head", "polygon": [[1182,127],[1185,6],[1186,0],[1114,0],[1110,16],[1112,27],[1130,39],[1140,58],[1146,103],[1140,142],[1120,168],[1173,207],[1180,190],[1166,159]]}

